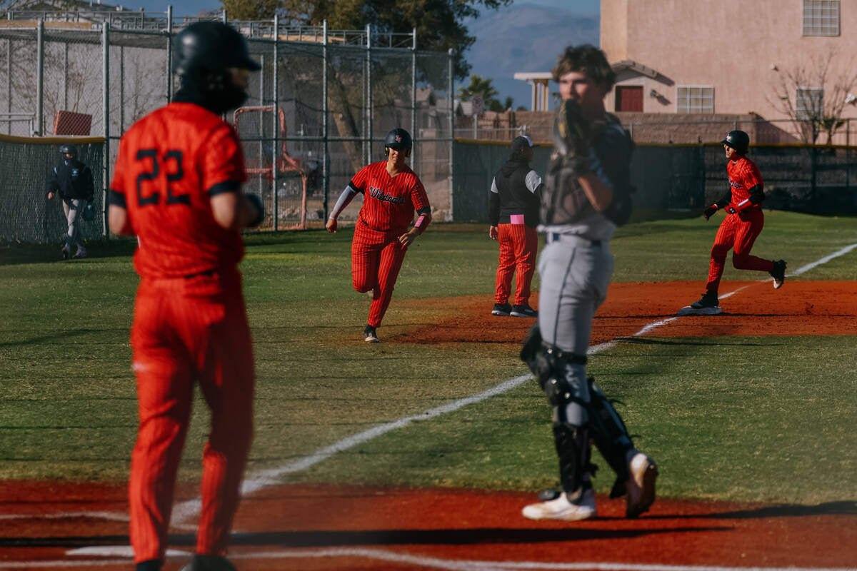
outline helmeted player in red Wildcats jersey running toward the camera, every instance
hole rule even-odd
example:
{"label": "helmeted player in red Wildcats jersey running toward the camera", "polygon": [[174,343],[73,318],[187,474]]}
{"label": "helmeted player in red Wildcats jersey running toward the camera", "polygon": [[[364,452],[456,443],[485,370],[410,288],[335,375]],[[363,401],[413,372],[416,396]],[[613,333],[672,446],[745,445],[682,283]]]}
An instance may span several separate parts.
{"label": "helmeted player in red Wildcats jersey running toward the camera", "polygon": [[[363,207],[351,242],[351,281],[359,292],[372,292],[366,342],[379,341],[376,329],[387,312],[405,252],[431,222],[431,206],[419,176],[405,164],[411,155],[411,134],[394,128],[384,140],[387,160],[369,164],[348,183],[327,219],[327,231],[336,232],[336,219],[363,193]],[[417,211],[417,222],[408,226]]]}

